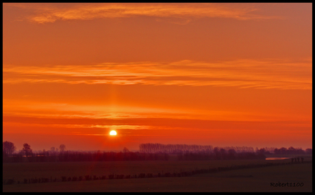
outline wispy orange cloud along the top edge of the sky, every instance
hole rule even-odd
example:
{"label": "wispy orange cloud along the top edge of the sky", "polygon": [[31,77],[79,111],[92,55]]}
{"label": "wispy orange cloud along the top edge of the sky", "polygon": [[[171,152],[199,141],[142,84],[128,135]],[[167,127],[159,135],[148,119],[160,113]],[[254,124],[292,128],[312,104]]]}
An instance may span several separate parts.
{"label": "wispy orange cloud along the top edge of the sky", "polygon": [[54,3],[7,3],[5,5],[34,9],[35,13],[29,16],[29,20],[36,23],[131,16],[181,18],[183,21],[179,23],[187,23],[192,18],[204,17],[238,20],[279,18],[279,16],[255,14],[258,9],[253,5],[231,4],[227,6],[226,3],[67,3],[63,6],[54,5]]}

